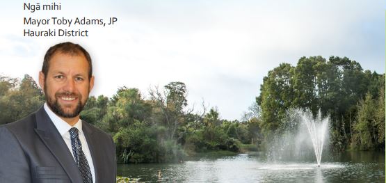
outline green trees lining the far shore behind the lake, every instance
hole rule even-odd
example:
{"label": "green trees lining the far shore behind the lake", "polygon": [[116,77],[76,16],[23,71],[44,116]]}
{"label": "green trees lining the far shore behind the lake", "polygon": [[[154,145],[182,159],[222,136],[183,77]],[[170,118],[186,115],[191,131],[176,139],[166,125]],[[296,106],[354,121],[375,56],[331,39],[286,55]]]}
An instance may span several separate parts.
{"label": "green trees lining the far shore behind the lake", "polygon": [[[220,119],[216,107],[199,113],[188,106],[185,83],[153,87],[148,98],[136,88],[113,97],[91,96],[81,119],[111,134],[124,163],[180,161],[200,152],[261,150],[285,125],[291,108],[329,114],[333,150],[385,149],[385,74],[363,71],[348,58],[300,58],[264,77],[261,93],[240,120]],[[0,125],[19,120],[44,103],[42,90],[26,75],[0,76]],[[252,145],[245,145],[252,144]],[[255,146],[255,148],[253,148]],[[252,148],[251,148],[252,147]]]}

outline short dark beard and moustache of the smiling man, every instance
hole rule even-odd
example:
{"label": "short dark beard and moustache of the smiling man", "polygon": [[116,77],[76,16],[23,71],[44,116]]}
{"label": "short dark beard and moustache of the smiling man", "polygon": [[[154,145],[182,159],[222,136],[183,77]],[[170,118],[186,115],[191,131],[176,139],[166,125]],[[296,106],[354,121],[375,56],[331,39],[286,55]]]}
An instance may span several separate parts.
{"label": "short dark beard and moustache of the smiling man", "polygon": [[[45,87],[46,89],[47,87]],[[77,103],[77,106],[75,107],[74,110],[72,111],[65,111],[65,109],[63,109],[63,106],[61,106],[61,104],[59,104],[58,102],[58,98],[61,97],[61,96],[67,96],[67,97],[77,97],[78,98],[78,103]],[[49,95],[47,95],[47,90],[45,90],[45,97],[46,97],[46,101],[47,101],[47,105],[49,106],[49,108],[57,115],[57,116],[61,116],[63,118],[74,118],[76,116],[79,115],[79,113],[81,113],[81,111],[83,110],[84,106],[86,105],[86,102],[84,102],[82,104],[81,100],[82,100],[82,96],[81,95],[76,95],[75,93],[55,93],[55,95],[53,96],[54,98],[51,98]]]}

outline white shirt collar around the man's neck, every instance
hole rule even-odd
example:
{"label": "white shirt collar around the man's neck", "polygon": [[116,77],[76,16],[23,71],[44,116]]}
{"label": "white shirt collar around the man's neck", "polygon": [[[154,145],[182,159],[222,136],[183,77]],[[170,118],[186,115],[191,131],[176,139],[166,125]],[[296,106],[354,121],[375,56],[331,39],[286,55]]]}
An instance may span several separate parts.
{"label": "white shirt collar around the man's neck", "polygon": [[[55,125],[56,129],[58,129],[61,136],[63,136],[66,132],[68,132],[72,128],[71,125],[68,125],[67,122],[65,122],[64,120],[59,118],[59,116],[57,116],[56,113],[51,111],[51,109],[47,105],[47,102],[45,103],[44,108],[45,108],[45,111],[47,112],[49,118],[51,119],[51,121],[54,122],[54,125]],[[78,122],[75,123],[75,125],[73,127],[76,127],[78,129],[79,133],[82,133],[83,132],[82,131],[82,120],[79,119]]]}

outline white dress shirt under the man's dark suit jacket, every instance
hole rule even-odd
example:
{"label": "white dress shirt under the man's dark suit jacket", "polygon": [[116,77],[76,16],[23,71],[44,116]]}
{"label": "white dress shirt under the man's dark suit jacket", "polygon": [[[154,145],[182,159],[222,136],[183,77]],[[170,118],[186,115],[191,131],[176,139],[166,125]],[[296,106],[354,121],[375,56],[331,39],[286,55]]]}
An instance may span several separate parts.
{"label": "white dress shirt under the man's dark suit jacket", "polygon": [[[71,146],[70,132],[68,132],[72,128],[72,126],[68,125],[67,122],[65,122],[58,116],[56,116],[56,114],[53,111],[51,111],[49,106],[47,106],[47,102],[45,103],[44,108],[49,118],[51,118],[52,122],[54,122],[56,129],[58,129],[58,132],[63,137],[63,140],[67,145],[67,148],[70,150],[72,157],[74,158],[74,152],[72,152],[72,146]],[[73,127],[76,127],[79,131],[79,140],[81,141],[81,144],[82,144],[82,150],[86,156],[88,166],[90,166],[91,175],[93,175],[93,182],[95,182],[95,170],[94,170],[93,159],[91,158],[90,150],[88,149],[88,144],[82,131],[82,120],[79,119],[79,121]],[[75,158],[74,158],[74,161],[75,161]]]}

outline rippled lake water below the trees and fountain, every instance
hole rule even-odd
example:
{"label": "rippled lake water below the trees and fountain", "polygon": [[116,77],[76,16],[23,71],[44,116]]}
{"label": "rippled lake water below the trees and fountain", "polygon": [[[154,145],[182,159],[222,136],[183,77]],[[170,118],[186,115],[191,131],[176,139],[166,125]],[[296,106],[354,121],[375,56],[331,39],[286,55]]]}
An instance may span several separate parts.
{"label": "rippled lake water below the trees and fountain", "polygon": [[320,167],[312,159],[267,161],[251,152],[179,164],[118,164],[118,175],[139,182],[385,182],[385,152],[327,154]]}

